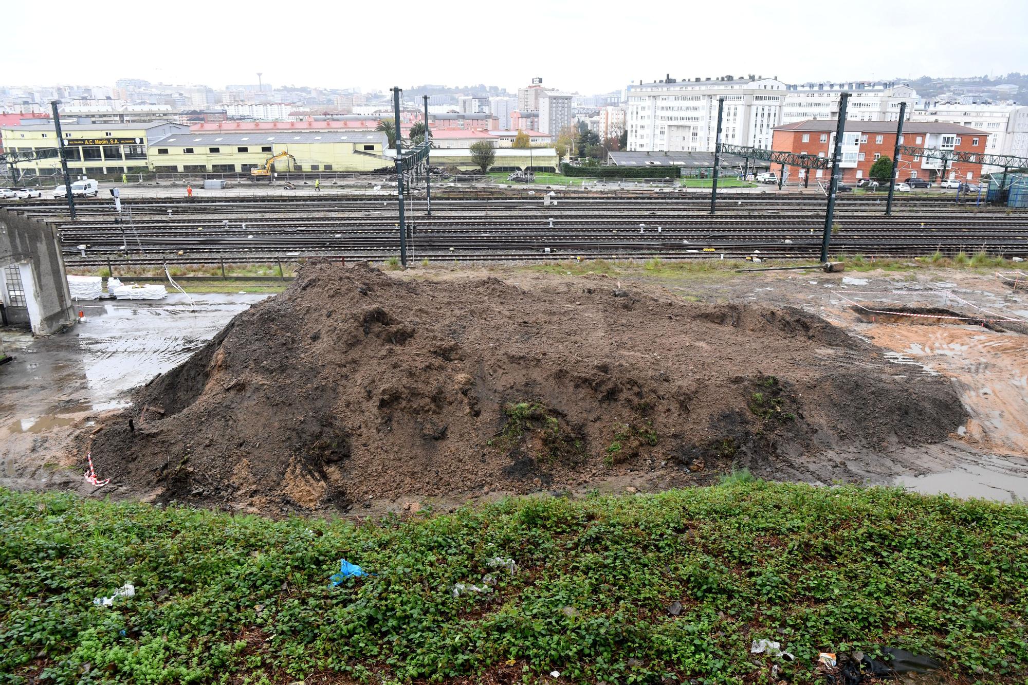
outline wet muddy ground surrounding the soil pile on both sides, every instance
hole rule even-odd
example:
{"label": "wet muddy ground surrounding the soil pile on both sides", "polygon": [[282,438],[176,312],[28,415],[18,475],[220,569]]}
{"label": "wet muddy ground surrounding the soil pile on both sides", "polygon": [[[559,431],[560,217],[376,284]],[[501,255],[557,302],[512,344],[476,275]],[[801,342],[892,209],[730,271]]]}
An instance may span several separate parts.
{"label": "wet muddy ground surrounding the soil pile on both sides", "polygon": [[[460,279],[482,271],[488,269],[431,273]],[[553,278],[530,271],[514,277],[509,271],[497,271],[526,288]],[[758,300],[816,313],[889,350],[897,375],[949,376],[970,416],[941,444],[887,454],[822,455],[809,462],[769,465],[758,475],[819,483],[898,483],[924,493],[1028,499],[1028,291],[1012,290],[990,274],[958,271],[644,275],[623,280],[631,278],[661,283],[690,300]],[[72,449],[71,434],[123,405],[133,388],[181,362],[232,316],[264,296],[193,295],[193,305],[182,295],[159,302],[80,303],[85,320],[70,333],[33,340],[12,329],[0,331],[5,348],[15,357],[0,366],[0,484],[95,492],[82,478],[85,455]],[[903,308],[946,310],[968,319],[940,323],[875,314]],[[974,318],[995,323],[986,328]],[[100,475],[114,476],[101,494],[146,496],[120,492],[116,474]],[[655,468],[629,479],[592,482],[589,489],[645,492],[660,489],[661,481]],[[468,495],[492,499],[502,493]],[[453,501],[428,503],[438,507]],[[404,504],[383,502],[367,513]]]}

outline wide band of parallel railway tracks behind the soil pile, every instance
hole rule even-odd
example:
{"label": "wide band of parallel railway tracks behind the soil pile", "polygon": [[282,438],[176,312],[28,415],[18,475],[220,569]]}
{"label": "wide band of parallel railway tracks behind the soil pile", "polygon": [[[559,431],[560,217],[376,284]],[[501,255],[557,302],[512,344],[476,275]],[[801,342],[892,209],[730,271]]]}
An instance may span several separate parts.
{"label": "wide band of parallel railway tracks behind the soil pile", "polygon": [[[819,253],[823,197],[726,193],[720,202],[713,216],[704,195],[572,195],[544,207],[539,196],[521,190],[484,200],[434,200],[431,217],[425,216],[424,203],[415,202],[408,213],[408,239],[416,258],[430,260]],[[74,222],[60,201],[16,209],[59,226],[70,265],[108,259],[382,259],[399,251],[396,205],[381,196],[133,200],[125,206],[132,209],[131,220],[116,216],[105,200],[82,203]],[[952,199],[937,197],[904,197],[891,217],[882,211],[881,199],[844,197],[833,251],[916,256],[986,250],[1028,256],[1028,212],[970,212]]]}

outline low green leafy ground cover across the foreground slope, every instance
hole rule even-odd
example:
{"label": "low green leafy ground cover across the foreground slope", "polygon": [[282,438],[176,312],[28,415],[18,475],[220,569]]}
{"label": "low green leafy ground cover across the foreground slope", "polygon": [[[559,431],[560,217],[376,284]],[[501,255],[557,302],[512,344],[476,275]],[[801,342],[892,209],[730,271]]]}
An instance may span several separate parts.
{"label": "low green leafy ground cover across the foreground slope", "polygon": [[[796,654],[788,682],[822,682],[819,651],[882,646],[952,681],[1028,670],[1021,504],[739,472],[358,525],[0,490],[0,532],[8,683],[768,682],[762,638]],[[375,575],[329,587],[340,557]]]}

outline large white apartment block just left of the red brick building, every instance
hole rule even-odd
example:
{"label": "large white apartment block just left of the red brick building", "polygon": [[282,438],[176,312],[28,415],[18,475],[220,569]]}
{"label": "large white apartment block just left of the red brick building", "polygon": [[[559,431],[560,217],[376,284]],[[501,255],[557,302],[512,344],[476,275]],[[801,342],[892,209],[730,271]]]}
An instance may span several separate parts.
{"label": "large white apartment block just left of the red brick building", "polygon": [[750,74],[628,86],[628,149],[710,152],[715,142],[718,99],[725,98],[722,142],[771,147],[780,120],[785,83]]}

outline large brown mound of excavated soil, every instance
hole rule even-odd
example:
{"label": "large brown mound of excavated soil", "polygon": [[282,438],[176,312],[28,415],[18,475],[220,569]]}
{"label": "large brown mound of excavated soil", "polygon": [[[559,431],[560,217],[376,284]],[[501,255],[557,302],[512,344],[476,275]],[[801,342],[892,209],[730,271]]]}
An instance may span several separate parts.
{"label": "large brown mound of excavated soil", "polygon": [[964,418],[946,378],[796,309],[319,260],[90,439],[103,477],[158,499],[309,510],[920,444]]}

